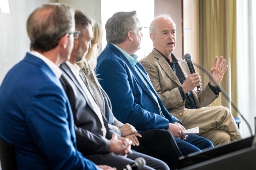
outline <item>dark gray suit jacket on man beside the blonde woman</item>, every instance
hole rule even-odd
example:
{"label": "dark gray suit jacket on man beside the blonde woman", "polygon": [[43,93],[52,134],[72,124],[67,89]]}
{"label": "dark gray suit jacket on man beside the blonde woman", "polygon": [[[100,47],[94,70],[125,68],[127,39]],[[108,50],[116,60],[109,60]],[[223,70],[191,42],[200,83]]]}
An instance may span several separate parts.
{"label": "dark gray suit jacket on man beside the blonde woman", "polygon": [[83,155],[109,153],[109,141],[113,130],[108,128],[108,122],[103,117],[107,129],[106,138],[103,138],[101,122],[93,110],[82,86],[66,63],[61,64],[61,83],[71,104],[74,122],[77,147]]}

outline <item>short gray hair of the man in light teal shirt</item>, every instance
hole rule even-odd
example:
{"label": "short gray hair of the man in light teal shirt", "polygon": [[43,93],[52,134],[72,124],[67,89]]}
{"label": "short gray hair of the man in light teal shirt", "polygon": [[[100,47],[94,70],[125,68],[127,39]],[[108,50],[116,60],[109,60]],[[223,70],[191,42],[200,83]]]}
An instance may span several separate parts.
{"label": "short gray hair of the man in light teal shirt", "polygon": [[126,40],[127,32],[135,32],[139,27],[137,12],[117,12],[106,22],[106,40],[108,43],[121,44]]}

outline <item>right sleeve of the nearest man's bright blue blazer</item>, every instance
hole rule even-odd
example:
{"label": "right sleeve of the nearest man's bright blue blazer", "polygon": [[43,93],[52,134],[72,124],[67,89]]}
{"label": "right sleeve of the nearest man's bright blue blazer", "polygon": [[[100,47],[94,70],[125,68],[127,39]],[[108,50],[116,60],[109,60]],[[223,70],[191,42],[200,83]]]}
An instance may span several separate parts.
{"label": "right sleeve of the nearest man's bright blue blazer", "polygon": [[75,136],[71,132],[74,120],[63,89],[48,82],[42,84],[31,94],[33,98],[26,114],[34,144],[46,155],[52,169],[98,169],[75,148]]}

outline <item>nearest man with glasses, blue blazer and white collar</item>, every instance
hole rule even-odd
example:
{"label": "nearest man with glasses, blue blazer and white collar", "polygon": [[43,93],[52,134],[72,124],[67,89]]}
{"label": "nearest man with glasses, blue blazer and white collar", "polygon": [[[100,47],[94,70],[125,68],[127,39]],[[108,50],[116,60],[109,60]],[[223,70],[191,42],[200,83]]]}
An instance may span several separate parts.
{"label": "nearest man with glasses, blue blazer and white collar", "polygon": [[73,115],[59,80],[74,31],[74,9],[64,4],[42,5],[27,20],[31,51],[0,87],[0,138],[14,146],[17,169],[112,169],[97,167],[76,149]]}

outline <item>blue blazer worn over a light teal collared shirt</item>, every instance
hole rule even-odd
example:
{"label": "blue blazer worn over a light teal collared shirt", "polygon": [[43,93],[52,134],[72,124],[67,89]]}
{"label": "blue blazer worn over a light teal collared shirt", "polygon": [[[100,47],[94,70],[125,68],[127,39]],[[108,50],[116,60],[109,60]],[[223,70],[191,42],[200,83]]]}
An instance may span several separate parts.
{"label": "blue blazer worn over a light teal collared shirt", "polygon": [[[123,123],[132,124],[138,131],[168,129],[169,122],[179,122],[169,114],[154,90],[147,72],[137,62],[146,82],[157,96],[156,101],[127,58],[108,43],[97,59],[96,74],[108,94],[114,116]],[[158,104],[165,118],[160,116]]]}

